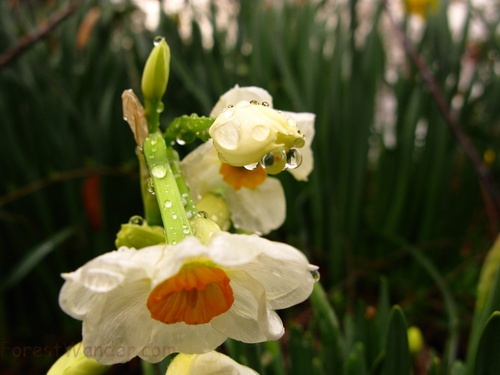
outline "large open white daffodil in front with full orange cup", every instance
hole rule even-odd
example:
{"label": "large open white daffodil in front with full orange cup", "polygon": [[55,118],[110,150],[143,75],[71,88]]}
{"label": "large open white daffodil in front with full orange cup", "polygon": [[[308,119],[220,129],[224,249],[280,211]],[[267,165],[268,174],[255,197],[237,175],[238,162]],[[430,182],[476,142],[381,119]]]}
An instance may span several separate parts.
{"label": "large open white daffodil in front with full orange cup", "polygon": [[289,245],[217,231],[206,244],[187,237],[103,254],[63,274],[59,303],[83,321],[87,356],[157,362],[174,352],[206,353],[228,337],[279,339],[284,328],[274,310],[304,301],[316,270]]}

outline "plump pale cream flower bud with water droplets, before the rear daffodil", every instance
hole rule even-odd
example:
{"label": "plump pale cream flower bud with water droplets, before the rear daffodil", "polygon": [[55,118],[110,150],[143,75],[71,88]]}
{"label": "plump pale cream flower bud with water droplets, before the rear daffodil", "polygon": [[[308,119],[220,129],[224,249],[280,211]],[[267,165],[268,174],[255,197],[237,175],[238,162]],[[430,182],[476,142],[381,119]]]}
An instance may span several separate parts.
{"label": "plump pale cream flower bud with water droplets, before the rear daffodil", "polygon": [[209,133],[220,160],[235,167],[258,163],[268,153],[286,152],[305,143],[293,118],[256,101],[228,106]]}

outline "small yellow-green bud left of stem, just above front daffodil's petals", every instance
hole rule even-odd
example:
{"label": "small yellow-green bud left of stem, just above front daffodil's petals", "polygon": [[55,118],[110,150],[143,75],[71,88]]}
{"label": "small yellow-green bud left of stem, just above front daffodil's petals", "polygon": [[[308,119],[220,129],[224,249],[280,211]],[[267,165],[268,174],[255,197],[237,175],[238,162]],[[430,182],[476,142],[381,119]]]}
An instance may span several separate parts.
{"label": "small yellow-green bud left of stem, just above front daffodil's petals", "polygon": [[121,246],[142,249],[165,242],[163,227],[149,226],[142,217],[132,216],[127,224],[122,224],[116,234],[116,248]]}

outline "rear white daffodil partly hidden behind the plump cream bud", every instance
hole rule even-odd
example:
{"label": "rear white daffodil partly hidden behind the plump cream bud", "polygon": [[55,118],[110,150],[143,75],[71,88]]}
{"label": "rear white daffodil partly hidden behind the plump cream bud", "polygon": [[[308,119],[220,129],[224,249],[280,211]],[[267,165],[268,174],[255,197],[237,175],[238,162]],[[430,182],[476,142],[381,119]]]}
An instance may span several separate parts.
{"label": "rear white daffodil partly hidden behind the plump cream bud", "polygon": [[[272,97],[266,90],[236,86],[220,98],[210,116],[217,117],[230,103],[242,99],[268,103],[272,108]],[[297,180],[307,180],[313,169],[311,142],[314,137],[314,115],[291,112],[286,114],[296,121],[305,141],[300,149],[302,163],[288,171]],[[261,165],[248,169],[223,163],[213,142],[208,141],[187,155],[181,163],[181,168],[195,200],[204,199],[211,192],[222,194],[235,227],[267,234],[279,228],[285,221],[286,202],[283,187],[280,181],[270,177]]]}

